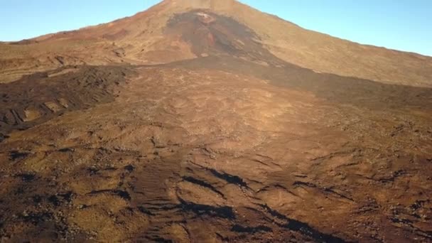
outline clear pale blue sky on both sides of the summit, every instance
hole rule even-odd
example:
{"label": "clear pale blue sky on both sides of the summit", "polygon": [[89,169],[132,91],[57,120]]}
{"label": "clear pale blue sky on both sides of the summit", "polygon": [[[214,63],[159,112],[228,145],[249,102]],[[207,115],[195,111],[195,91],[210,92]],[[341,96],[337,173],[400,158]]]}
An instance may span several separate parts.
{"label": "clear pale blue sky on both sides of the summit", "polygon": [[[0,41],[106,23],[157,0],[0,0]],[[432,0],[243,0],[314,31],[432,56]],[[281,30],[284,31],[284,30]]]}

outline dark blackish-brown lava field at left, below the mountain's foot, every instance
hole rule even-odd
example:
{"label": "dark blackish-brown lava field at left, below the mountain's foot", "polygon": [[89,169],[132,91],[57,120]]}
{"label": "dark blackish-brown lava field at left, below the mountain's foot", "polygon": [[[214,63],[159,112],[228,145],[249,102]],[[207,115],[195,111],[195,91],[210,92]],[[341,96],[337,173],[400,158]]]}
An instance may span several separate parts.
{"label": "dark blackish-brown lava field at left, below the mountain's foot", "polygon": [[0,134],[28,129],[76,109],[112,102],[114,86],[125,82],[127,67],[80,67],[73,73],[62,68],[38,72],[0,84]]}

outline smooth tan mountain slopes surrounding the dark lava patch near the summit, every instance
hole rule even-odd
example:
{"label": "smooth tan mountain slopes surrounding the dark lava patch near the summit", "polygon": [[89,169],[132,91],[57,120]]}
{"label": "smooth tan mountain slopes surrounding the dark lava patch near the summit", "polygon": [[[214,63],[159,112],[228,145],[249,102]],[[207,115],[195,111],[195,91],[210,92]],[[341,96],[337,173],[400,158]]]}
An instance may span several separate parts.
{"label": "smooth tan mountain slopes surrounding the dark lava patch near the summit", "polygon": [[[33,44],[26,46],[1,45],[0,53],[4,59],[15,60],[16,55],[21,55],[23,51],[35,58],[31,54],[33,50],[34,55],[45,58],[49,50],[48,55],[65,56],[70,64],[78,60],[89,64],[120,63],[122,60],[127,63],[168,63],[194,58],[188,41],[167,35],[164,31],[169,19],[190,9],[207,9],[233,18],[254,31],[257,35],[254,41],[264,45],[278,58],[316,72],[403,85],[432,85],[430,57],[359,45],[307,31],[234,0],[166,0],[148,11],[113,23],[35,38],[30,41]],[[34,44],[35,41],[40,43]],[[46,46],[48,43],[49,46]],[[88,55],[87,50],[92,50],[94,55]],[[48,63],[48,60],[39,62],[46,68],[61,65]],[[0,72],[4,76],[9,75],[8,67],[4,66]]]}

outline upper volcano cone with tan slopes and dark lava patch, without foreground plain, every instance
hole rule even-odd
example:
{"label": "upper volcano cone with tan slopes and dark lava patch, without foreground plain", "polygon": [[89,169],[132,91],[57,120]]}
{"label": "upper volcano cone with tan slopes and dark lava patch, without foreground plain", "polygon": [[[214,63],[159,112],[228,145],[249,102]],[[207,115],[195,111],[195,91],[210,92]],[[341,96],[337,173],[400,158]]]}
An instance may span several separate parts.
{"label": "upper volcano cone with tan slopes and dark lava patch, without foreground plain", "polygon": [[[198,13],[209,14],[215,21],[209,22]],[[167,26],[169,23],[171,27]],[[114,63],[170,63],[210,53],[235,53],[237,57],[250,59],[252,53],[255,55],[259,50],[255,58],[271,56],[266,63],[273,63],[277,58],[316,72],[427,87],[431,86],[432,78],[432,69],[428,68],[432,58],[308,31],[237,0],[164,0],[146,11],[111,23],[49,34],[17,44],[47,42],[51,46],[48,53],[55,53],[50,54],[51,59],[68,56],[72,51],[81,53],[82,57],[78,59],[85,63],[99,64],[107,60]],[[71,42],[77,45],[70,45]],[[70,45],[73,50],[65,50],[65,45]],[[89,56],[87,49],[99,53]],[[350,55],[346,54],[347,50]],[[0,54],[3,54],[1,50]],[[39,59],[46,60],[41,66],[52,68],[55,65],[45,58],[45,53],[38,55],[41,55]],[[424,65],[425,62],[428,64]],[[15,77],[3,75],[2,78]]]}

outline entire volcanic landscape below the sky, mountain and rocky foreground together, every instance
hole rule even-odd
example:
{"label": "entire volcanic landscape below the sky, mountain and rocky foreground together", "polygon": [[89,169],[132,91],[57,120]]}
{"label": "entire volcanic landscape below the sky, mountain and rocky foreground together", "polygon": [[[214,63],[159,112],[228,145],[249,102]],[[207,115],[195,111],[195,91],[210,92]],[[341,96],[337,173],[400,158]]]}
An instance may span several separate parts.
{"label": "entire volcanic landscape below the sky, mountain and rocky foreground together", "polygon": [[0,43],[2,242],[430,242],[432,58],[234,0]]}

